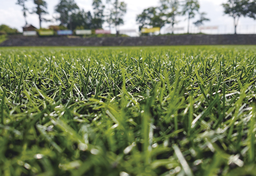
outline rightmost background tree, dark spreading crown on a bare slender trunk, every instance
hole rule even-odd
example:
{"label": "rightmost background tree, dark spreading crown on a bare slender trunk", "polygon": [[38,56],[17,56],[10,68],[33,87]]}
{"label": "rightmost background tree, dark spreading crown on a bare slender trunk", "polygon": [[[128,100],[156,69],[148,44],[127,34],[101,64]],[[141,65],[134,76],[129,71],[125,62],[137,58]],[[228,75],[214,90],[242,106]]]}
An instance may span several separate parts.
{"label": "rightmost background tree, dark spreading crown on a bare slender trunk", "polygon": [[255,4],[255,0],[228,0],[226,4],[222,4],[224,13],[234,19],[235,34],[238,20],[241,16],[250,17],[255,20]]}

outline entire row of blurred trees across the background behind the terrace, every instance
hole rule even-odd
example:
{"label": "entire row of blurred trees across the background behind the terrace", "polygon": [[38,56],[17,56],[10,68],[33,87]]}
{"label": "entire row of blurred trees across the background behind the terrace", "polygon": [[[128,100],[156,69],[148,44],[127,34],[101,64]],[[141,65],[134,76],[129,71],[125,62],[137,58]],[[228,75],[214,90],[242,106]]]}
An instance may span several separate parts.
{"label": "entire row of blurred trees across the background behind the terrace", "polygon": [[[48,13],[47,3],[45,0],[33,0],[35,7],[28,9],[26,3],[29,0],[17,0],[18,5],[22,7],[23,16],[27,13],[36,13],[39,17],[41,28],[42,21],[51,21],[45,19],[44,15]],[[54,20],[60,22],[61,26],[73,29],[96,29],[102,28],[104,22],[107,22],[109,27],[116,28],[118,34],[118,26],[124,24],[124,15],[127,11],[127,4],[120,0],[106,0],[104,3],[101,0],[92,1],[93,13],[86,12],[80,9],[74,0],[60,0],[55,6],[54,12],[58,14]],[[222,4],[224,14],[233,17],[235,34],[238,20],[240,17],[250,17],[256,19],[256,0],[228,0]],[[205,12],[200,12],[200,4],[198,0],[159,0],[159,6],[149,7],[144,9],[142,13],[136,17],[136,22],[141,28],[162,28],[166,24],[170,24],[172,28],[179,23],[178,16],[185,16],[189,24],[192,19],[199,15],[199,19],[193,24],[197,27],[203,25],[205,21],[209,21]]]}

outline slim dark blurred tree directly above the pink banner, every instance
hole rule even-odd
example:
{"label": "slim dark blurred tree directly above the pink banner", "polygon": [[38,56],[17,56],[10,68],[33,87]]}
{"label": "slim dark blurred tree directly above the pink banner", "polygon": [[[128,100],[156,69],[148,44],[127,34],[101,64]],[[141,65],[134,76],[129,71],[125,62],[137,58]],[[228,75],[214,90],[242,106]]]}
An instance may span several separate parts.
{"label": "slim dark blurred tree directly above the pink banner", "polygon": [[93,7],[93,15],[94,17],[92,18],[92,28],[102,28],[102,25],[104,23],[104,9],[105,6],[102,5],[101,0],[93,0],[92,2],[92,7]]}

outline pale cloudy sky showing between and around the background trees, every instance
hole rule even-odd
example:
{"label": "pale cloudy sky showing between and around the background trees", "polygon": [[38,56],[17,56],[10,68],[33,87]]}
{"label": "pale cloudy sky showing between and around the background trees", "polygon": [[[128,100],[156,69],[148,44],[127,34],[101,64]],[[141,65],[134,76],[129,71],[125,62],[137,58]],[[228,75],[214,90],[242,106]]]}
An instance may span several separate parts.
{"label": "pale cloudy sky showing between and around the background trees", "polygon": [[[45,0],[48,4],[49,14],[45,15],[45,18],[53,19],[57,14],[54,13],[54,7],[58,4],[59,0]],[[144,9],[151,6],[158,6],[159,0],[123,0],[127,4],[127,13],[124,16],[124,25],[120,26],[120,29],[136,29],[139,31],[139,25],[136,23],[136,16],[140,14]],[[209,22],[205,22],[204,26],[218,26],[218,29],[204,30],[204,33],[211,34],[222,34],[222,33],[233,33],[233,18],[228,15],[224,15],[222,3],[225,3],[227,0],[199,0],[200,9],[199,12],[206,12],[206,17],[210,19]],[[21,7],[16,4],[17,0],[0,0],[0,24],[6,24],[12,28],[17,28],[19,31],[22,31],[22,26],[25,25],[25,20],[21,12]],[[75,0],[76,4],[80,9],[85,11],[91,11],[92,9],[92,0]],[[104,1],[103,1],[104,2]],[[27,3],[29,8],[33,8],[33,0],[28,0]],[[193,25],[193,22],[199,19],[199,15],[196,15],[195,19],[190,21],[190,32],[199,32],[198,29]],[[188,22],[186,17],[178,17],[179,23],[175,27],[184,27],[184,31],[177,32],[186,32]],[[29,24],[39,28],[39,19],[36,14],[28,14],[27,21]],[[47,28],[49,25],[58,25],[59,22],[43,22],[42,27]],[[162,28],[161,33],[165,32],[165,28],[169,26],[166,25]],[[103,25],[104,29],[109,29],[107,24]],[[112,33],[115,33],[115,29],[111,29]],[[240,18],[237,28],[238,33],[256,33],[256,21],[250,18]],[[130,34],[132,36],[137,36],[137,34]]]}

